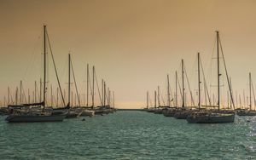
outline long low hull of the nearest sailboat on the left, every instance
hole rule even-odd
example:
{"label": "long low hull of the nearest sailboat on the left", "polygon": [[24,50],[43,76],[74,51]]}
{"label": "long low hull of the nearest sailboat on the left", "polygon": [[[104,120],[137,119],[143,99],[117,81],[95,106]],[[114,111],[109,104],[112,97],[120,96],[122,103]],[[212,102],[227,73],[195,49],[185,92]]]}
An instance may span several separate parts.
{"label": "long low hull of the nearest sailboat on the left", "polygon": [[9,115],[6,121],[9,123],[39,123],[39,122],[61,122],[66,115]]}

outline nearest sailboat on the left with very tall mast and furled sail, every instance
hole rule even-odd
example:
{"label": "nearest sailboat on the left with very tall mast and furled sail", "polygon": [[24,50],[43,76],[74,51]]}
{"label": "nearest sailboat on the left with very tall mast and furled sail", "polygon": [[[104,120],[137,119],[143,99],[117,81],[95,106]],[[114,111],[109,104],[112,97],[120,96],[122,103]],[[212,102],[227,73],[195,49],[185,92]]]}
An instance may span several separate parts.
{"label": "nearest sailboat on the left with very tall mast and furled sail", "polygon": [[[44,100],[40,103],[23,104],[22,106],[39,106],[39,111],[29,111],[27,113],[17,113],[15,110],[11,110],[11,114],[6,117],[6,121],[9,123],[32,123],[32,122],[61,122],[66,117],[65,114],[53,115],[51,111],[45,110],[46,99],[46,36],[49,43],[49,37],[44,26]],[[43,110],[41,109],[43,106]]]}

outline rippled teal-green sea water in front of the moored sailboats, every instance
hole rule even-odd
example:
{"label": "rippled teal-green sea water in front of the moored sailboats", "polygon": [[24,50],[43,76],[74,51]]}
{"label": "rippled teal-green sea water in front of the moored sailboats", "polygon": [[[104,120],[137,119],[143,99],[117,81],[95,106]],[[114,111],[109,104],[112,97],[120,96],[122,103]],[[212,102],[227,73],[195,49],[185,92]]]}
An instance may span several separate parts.
{"label": "rippled teal-green sea water in front of the moored sailboats", "polygon": [[143,111],[62,123],[0,118],[0,159],[256,159],[256,117],[225,124],[189,124]]}

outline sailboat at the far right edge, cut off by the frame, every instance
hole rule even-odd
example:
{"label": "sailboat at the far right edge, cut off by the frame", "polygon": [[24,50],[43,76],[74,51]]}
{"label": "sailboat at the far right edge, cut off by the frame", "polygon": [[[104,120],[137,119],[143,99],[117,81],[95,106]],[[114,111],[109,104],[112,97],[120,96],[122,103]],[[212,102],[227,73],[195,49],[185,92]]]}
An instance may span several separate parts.
{"label": "sailboat at the far right edge, cut off by the frame", "polygon": [[[255,110],[252,110],[252,87],[253,87],[253,83],[252,83],[252,76],[251,76],[251,72],[249,73],[249,90],[250,90],[250,108],[249,110],[247,109],[239,109],[239,110],[236,110],[236,114],[238,116],[256,116],[256,111]],[[253,90],[253,94],[254,94],[254,90]],[[254,102],[255,102],[255,97],[254,97]]]}

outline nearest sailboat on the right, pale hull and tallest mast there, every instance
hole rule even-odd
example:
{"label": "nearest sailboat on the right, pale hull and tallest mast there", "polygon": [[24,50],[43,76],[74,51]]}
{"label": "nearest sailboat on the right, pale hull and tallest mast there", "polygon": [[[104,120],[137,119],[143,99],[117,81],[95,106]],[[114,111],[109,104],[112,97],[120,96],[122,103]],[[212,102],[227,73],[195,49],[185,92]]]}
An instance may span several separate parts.
{"label": "nearest sailboat on the right, pale hull and tallest mast there", "polygon": [[[191,114],[189,114],[189,116],[187,117],[188,123],[234,123],[234,119],[235,119],[234,111],[221,111],[220,110],[220,85],[219,85],[220,78],[219,77],[221,76],[221,74],[219,72],[219,50],[218,50],[220,39],[219,39],[218,31],[216,31],[216,34],[217,34],[217,60],[218,60],[217,61],[218,62],[217,63],[218,64],[218,110],[191,112]],[[225,64],[224,64],[224,66],[225,66]],[[225,71],[226,71],[226,67],[225,67]],[[198,72],[200,74],[200,68],[199,68]],[[226,75],[228,77],[227,71],[226,71]],[[230,89],[229,78],[228,78],[228,83],[229,83],[229,89]],[[199,76],[199,91],[200,91],[200,76]],[[201,95],[199,94],[199,109],[201,107],[201,97],[200,96]],[[230,89],[230,97],[232,100],[232,104],[234,106],[231,89]],[[215,106],[213,106],[213,107],[215,107]]]}

